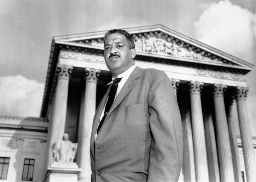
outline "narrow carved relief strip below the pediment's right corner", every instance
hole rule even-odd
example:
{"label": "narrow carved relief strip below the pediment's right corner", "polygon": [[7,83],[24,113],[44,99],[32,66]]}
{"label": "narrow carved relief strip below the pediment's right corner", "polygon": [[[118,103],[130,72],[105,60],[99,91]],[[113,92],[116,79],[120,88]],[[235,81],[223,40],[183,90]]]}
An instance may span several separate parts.
{"label": "narrow carved relief strip below the pediment's right corner", "polygon": [[230,73],[230,72],[219,72],[219,71],[203,70],[203,69],[196,69],[196,72],[198,75],[202,75],[202,76],[221,78],[221,79],[238,80],[238,81],[246,81],[245,77],[243,75]]}

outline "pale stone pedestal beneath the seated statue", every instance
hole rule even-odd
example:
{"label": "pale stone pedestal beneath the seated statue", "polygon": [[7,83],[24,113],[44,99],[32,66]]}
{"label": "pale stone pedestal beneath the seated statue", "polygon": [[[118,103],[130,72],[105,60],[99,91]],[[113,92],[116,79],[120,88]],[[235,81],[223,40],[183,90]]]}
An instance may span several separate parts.
{"label": "pale stone pedestal beneath the seated statue", "polygon": [[47,169],[44,182],[77,182],[80,171],[75,162],[53,162]]}

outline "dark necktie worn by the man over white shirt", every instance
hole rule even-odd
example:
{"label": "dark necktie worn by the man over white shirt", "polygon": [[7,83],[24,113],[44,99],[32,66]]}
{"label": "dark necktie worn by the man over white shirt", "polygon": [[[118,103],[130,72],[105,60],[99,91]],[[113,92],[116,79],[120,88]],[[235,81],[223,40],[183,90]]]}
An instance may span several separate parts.
{"label": "dark necktie worn by the man over white shirt", "polygon": [[110,88],[110,92],[108,94],[108,101],[106,103],[104,116],[102,117],[102,120],[99,122],[99,126],[98,126],[98,129],[97,129],[97,132],[96,132],[97,134],[98,134],[99,129],[102,126],[102,124],[103,124],[103,122],[104,122],[104,120],[105,120],[105,118],[108,114],[108,111],[110,110],[111,105],[113,104],[113,102],[115,100],[115,94],[117,92],[118,83],[121,79],[122,78],[116,78],[116,79],[113,80],[112,86]]}

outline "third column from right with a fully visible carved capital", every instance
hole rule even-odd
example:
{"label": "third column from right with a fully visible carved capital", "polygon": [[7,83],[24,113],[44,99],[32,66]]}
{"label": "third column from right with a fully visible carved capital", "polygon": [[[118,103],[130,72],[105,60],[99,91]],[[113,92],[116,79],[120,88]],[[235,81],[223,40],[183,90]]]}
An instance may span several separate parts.
{"label": "third column from right with a fully visible carved capital", "polygon": [[192,131],[194,140],[194,159],[197,182],[209,182],[207,167],[207,152],[205,132],[203,127],[203,113],[201,105],[201,88],[203,83],[190,82],[190,101],[192,116]]}

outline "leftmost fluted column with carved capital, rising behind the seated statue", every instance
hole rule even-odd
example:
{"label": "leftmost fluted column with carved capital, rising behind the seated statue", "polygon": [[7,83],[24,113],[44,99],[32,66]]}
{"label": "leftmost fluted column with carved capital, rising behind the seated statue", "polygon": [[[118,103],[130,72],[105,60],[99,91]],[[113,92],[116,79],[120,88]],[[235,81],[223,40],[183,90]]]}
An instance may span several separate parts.
{"label": "leftmost fluted column with carved capital, rising behind the seated statue", "polygon": [[51,127],[48,136],[48,159],[47,165],[52,160],[52,145],[56,140],[62,140],[65,124],[68,101],[68,82],[71,77],[73,66],[58,65],[56,70],[57,88],[54,96],[53,114],[51,117]]}

